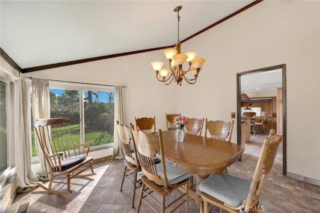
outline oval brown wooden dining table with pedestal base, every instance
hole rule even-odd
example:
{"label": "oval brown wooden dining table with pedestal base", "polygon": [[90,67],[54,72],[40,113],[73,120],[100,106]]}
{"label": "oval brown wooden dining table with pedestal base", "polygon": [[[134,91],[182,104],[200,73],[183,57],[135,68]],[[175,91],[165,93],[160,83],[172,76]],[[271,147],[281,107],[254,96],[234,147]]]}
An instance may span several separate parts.
{"label": "oval brown wooden dining table with pedestal base", "polygon": [[199,184],[210,174],[220,173],[234,163],[243,153],[241,146],[225,140],[185,133],[182,142],[174,139],[174,130],[162,131],[163,151],[168,162],[182,171],[196,176],[196,190],[189,196],[203,212]]}

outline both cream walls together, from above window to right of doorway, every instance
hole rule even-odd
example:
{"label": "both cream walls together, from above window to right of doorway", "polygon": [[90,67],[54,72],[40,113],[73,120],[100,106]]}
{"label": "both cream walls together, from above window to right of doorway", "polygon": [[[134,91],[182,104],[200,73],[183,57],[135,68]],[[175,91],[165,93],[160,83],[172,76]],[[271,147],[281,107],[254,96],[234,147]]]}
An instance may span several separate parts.
{"label": "both cream walls together, from above window to right of doorway", "polygon": [[236,111],[236,73],[285,63],[287,171],[320,180],[319,1],[262,1],[182,43],[182,52],[191,50],[206,59],[193,85],[164,86],[155,79],[149,62],[164,61],[161,50],[29,76],[126,85],[125,123],[134,122],[134,116],[155,115],[156,127],[164,129],[166,112],[231,120],[230,112]]}

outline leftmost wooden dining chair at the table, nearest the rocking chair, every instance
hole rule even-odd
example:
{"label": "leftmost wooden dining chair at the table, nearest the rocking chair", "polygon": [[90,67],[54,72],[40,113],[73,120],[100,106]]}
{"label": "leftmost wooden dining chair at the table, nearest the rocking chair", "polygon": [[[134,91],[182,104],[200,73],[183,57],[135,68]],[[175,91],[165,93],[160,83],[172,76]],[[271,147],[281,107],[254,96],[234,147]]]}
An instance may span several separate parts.
{"label": "leftmost wooden dining chair at the table, nearest the rocking chair", "polygon": [[121,179],[120,191],[122,191],[124,179],[126,179],[132,184],[133,189],[131,206],[132,208],[134,208],[135,189],[137,188],[137,173],[141,171],[141,167],[139,160],[137,159],[138,155],[130,127],[119,124],[119,121],[117,120],[116,128],[118,130],[120,141],[122,144],[122,152],[125,156],[125,159],[123,160],[124,169]]}

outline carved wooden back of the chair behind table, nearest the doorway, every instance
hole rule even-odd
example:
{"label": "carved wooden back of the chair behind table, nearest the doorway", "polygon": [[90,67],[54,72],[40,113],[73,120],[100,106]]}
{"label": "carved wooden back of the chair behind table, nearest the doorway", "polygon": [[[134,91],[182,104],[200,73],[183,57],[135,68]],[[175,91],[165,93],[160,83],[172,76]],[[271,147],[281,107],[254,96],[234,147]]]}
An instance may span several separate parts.
{"label": "carved wooden back of the chair behind table, nearest the doorway", "polygon": [[205,118],[205,131],[204,136],[206,137],[207,131],[211,138],[231,141],[232,130],[234,120],[226,122],[223,120],[207,120]]}

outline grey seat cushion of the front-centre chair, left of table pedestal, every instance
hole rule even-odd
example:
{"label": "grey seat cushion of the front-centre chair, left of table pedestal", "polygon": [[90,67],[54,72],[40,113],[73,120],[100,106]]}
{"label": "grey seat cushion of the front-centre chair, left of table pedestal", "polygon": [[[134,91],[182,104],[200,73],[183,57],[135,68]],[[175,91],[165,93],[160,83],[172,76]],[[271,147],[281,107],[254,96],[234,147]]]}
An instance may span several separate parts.
{"label": "grey seat cushion of the front-centre chair, left of table pedestal", "polygon": [[[158,175],[163,178],[162,162],[157,163],[155,167]],[[167,163],[165,163],[165,171],[170,185],[181,182],[182,180],[185,180],[191,176],[191,174],[181,171],[180,169]]]}

